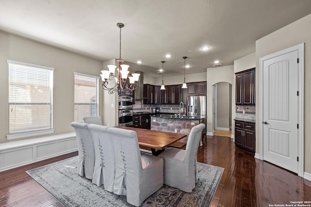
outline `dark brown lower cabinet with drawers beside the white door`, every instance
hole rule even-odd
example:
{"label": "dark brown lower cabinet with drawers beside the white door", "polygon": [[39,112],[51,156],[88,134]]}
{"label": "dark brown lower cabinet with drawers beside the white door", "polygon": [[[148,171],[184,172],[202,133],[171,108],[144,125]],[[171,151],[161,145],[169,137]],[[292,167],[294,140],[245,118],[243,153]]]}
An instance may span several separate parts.
{"label": "dark brown lower cabinet with drawers beside the white door", "polygon": [[255,153],[255,124],[235,121],[234,142],[237,147]]}

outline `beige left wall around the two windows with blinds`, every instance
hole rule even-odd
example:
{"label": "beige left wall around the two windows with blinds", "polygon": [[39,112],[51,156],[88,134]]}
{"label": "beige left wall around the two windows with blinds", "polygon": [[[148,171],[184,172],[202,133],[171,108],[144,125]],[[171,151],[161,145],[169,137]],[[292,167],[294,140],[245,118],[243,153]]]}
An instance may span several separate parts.
{"label": "beige left wall around the two windows with blinds", "polygon": [[[54,68],[53,128],[54,134],[72,132],[74,119],[74,72],[99,76],[102,62],[54,48],[13,34],[0,32],[0,143],[7,142],[8,132],[8,64],[7,60]],[[99,100],[103,94],[100,93]],[[99,113],[103,113],[100,101]]]}

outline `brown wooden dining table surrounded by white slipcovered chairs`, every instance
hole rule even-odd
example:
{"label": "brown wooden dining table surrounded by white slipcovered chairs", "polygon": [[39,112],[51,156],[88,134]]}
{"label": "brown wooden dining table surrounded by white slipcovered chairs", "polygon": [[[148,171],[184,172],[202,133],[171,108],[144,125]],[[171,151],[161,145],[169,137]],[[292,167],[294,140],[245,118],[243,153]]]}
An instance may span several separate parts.
{"label": "brown wooden dining table surrounded by white slipcovered chairs", "polygon": [[185,138],[186,134],[178,134],[173,132],[156,131],[144,128],[134,128],[134,127],[122,127],[117,126],[117,128],[123,128],[135,131],[137,133],[138,144],[141,148],[150,148],[153,155],[157,156],[165,150],[165,147],[172,145],[173,143]]}

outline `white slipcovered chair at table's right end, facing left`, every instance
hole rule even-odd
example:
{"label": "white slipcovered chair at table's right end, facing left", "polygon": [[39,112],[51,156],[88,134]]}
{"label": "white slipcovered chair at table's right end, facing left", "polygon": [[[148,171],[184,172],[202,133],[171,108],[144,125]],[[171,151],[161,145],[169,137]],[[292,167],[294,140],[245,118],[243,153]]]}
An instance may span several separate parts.
{"label": "white slipcovered chair at table's right end, facing left", "polygon": [[204,124],[192,127],[186,150],[173,147],[159,154],[164,159],[164,184],[181,191],[192,192],[198,181],[196,156]]}

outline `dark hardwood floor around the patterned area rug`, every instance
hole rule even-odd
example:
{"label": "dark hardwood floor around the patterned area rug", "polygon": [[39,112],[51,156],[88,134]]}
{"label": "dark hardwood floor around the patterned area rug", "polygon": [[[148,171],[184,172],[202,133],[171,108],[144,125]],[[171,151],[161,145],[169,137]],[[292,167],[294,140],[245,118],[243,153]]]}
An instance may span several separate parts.
{"label": "dark hardwood floor around the patterned area rug", "polygon": [[[26,170],[76,156],[70,153],[0,172],[0,207],[63,207]],[[207,136],[198,161],[225,168],[211,207],[268,207],[311,201],[311,182],[235,148],[228,137]]]}

